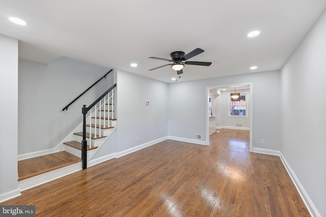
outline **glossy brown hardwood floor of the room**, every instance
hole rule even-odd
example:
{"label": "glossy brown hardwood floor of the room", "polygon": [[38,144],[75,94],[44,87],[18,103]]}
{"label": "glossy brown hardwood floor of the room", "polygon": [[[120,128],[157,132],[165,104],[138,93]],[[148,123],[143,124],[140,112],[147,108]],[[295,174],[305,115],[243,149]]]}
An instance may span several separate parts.
{"label": "glossy brown hardwood floor of the room", "polygon": [[249,152],[249,131],[210,145],[166,140],[22,192],[1,205],[38,216],[310,216],[281,160]]}

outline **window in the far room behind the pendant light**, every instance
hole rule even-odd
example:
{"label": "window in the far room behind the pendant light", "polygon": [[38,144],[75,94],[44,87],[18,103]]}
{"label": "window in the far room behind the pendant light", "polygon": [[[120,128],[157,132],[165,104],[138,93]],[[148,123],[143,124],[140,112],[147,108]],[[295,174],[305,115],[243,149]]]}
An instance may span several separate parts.
{"label": "window in the far room behind the pendant light", "polygon": [[240,97],[237,100],[231,99],[231,95],[229,95],[229,102],[230,102],[229,116],[248,117],[246,100],[247,100],[247,94],[240,94]]}

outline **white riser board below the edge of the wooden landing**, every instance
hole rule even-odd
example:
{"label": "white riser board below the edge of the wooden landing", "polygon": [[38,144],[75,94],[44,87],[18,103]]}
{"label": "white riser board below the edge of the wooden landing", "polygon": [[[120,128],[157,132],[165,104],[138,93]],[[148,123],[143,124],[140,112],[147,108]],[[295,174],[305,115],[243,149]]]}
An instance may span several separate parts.
{"label": "white riser board below the edge of the wooden landing", "polygon": [[46,182],[77,172],[79,170],[82,170],[82,162],[78,162],[66,167],[62,167],[37,176],[20,180],[18,181],[18,188],[20,189],[20,191],[25,191],[34,188],[38,185],[44,184]]}

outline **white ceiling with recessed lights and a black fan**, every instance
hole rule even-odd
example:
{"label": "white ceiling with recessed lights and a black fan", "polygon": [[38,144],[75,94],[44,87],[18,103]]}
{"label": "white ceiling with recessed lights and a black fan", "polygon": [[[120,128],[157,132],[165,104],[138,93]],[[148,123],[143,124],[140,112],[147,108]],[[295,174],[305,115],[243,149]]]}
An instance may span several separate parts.
{"label": "white ceiling with recessed lights and a black fan", "polygon": [[[170,66],[148,70],[170,62],[149,56],[205,50],[189,60],[212,65],[186,65],[179,82],[280,69],[325,8],[325,0],[0,0],[0,34],[19,40],[23,59],[67,56],[164,82],[176,82]],[[248,38],[252,30],[261,34]]]}

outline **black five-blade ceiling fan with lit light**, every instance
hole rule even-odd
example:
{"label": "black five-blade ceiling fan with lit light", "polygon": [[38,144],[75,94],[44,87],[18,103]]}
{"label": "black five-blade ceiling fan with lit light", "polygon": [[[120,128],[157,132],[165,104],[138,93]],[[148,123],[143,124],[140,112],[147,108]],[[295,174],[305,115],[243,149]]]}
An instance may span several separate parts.
{"label": "black five-blade ceiling fan with lit light", "polygon": [[[174,51],[170,54],[171,59],[166,59],[166,58],[160,58],[160,57],[148,57],[151,59],[160,59],[160,60],[166,60],[166,61],[170,61],[173,62],[173,64],[167,64],[164,66],[159,66],[153,69],[150,69],[148,71],[152,71],[155,69],[159,69],[165,66],[171,66],[172,69],[174,69],[175,71],[177,71],[177,75],[181,75],[183,73],[182,69],[184,67],[184,65],[196,65],[196,66],[210,66],[212,63],[210,62],[198,62],[198,61],[185,61],[188,60],[194,56],[197,56],[198,54],[204,52],[203,49],[200,48],[196,48],[195,50],[193,50],[190,53],[185,54],[183,51]],[[185,61],[185,62],[184,62]]]}

